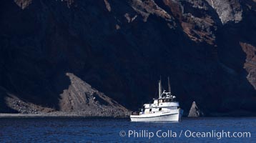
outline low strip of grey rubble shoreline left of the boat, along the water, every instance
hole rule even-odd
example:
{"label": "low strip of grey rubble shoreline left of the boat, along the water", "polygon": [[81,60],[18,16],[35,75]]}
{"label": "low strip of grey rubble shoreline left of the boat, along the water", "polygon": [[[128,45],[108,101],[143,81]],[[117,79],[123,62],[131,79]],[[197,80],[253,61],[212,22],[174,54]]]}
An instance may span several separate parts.
{"label": "low strip of grey rubble shoreline left of the boat, along the water", "polygon": [[14,98],[7,98],[9,106],[19,113],[0,113],[1,117],[129,117],[131,112],[123,109],[105,108],[81,110],[74,112],[56,111],[55,109],[40,107]]}

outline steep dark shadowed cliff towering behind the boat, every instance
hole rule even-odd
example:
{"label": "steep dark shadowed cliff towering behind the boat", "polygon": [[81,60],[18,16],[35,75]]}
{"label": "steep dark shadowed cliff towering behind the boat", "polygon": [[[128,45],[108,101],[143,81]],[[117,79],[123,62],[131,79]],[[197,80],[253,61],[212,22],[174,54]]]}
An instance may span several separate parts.
{"label": "steep dark shadowed cliff towering behind the boat", "polygon": [[26,102],[74,112],[87,108],[67,102],[87,101],[66,76],[74,73],[137,109],[156,97],[159,77],[170,76],[185,111],[196,101],[206,115],[250,115],[255,9],[252,0],[4,0],[0,86]]}

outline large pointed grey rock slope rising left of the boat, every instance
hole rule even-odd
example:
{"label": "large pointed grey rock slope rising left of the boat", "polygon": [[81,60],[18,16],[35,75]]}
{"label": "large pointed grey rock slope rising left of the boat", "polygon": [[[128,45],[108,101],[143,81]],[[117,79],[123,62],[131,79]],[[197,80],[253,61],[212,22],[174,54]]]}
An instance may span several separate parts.
{"label": "large pointed grey rock slope rising left of the boat", "polygon": [[67,73],[71,84],[64,89],[59,101],[61,112],[80,112],[87,116],[125,117],[129,110],[97,91],[72,73]]}

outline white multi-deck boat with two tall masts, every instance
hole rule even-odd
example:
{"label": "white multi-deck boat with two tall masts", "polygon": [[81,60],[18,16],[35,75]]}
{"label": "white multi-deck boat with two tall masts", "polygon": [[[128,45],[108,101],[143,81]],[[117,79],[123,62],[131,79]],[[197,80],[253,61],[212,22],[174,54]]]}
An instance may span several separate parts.
{"label": "white multi-deck boat with two tall masts", "polygon": [[162,92],[161,80],[159,80],[159,98],[153,99],[152,104],[144,104],[139,114],[130,115],[132,122],[180,122],[183,110],[179,108],[179,102],[171,93],[168,78],[169,92]]}

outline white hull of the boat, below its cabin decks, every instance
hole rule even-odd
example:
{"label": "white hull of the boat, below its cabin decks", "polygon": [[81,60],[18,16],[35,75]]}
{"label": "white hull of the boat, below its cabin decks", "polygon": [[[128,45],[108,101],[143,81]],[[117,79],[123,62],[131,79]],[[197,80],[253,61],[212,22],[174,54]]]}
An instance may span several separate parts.
{"label": "white hull of the boat, below its cabin decks", "polygon": [[157,112],[152,114],[131,115],[132,122],[180,122],[182,109],[172,109],[168,112]]}

